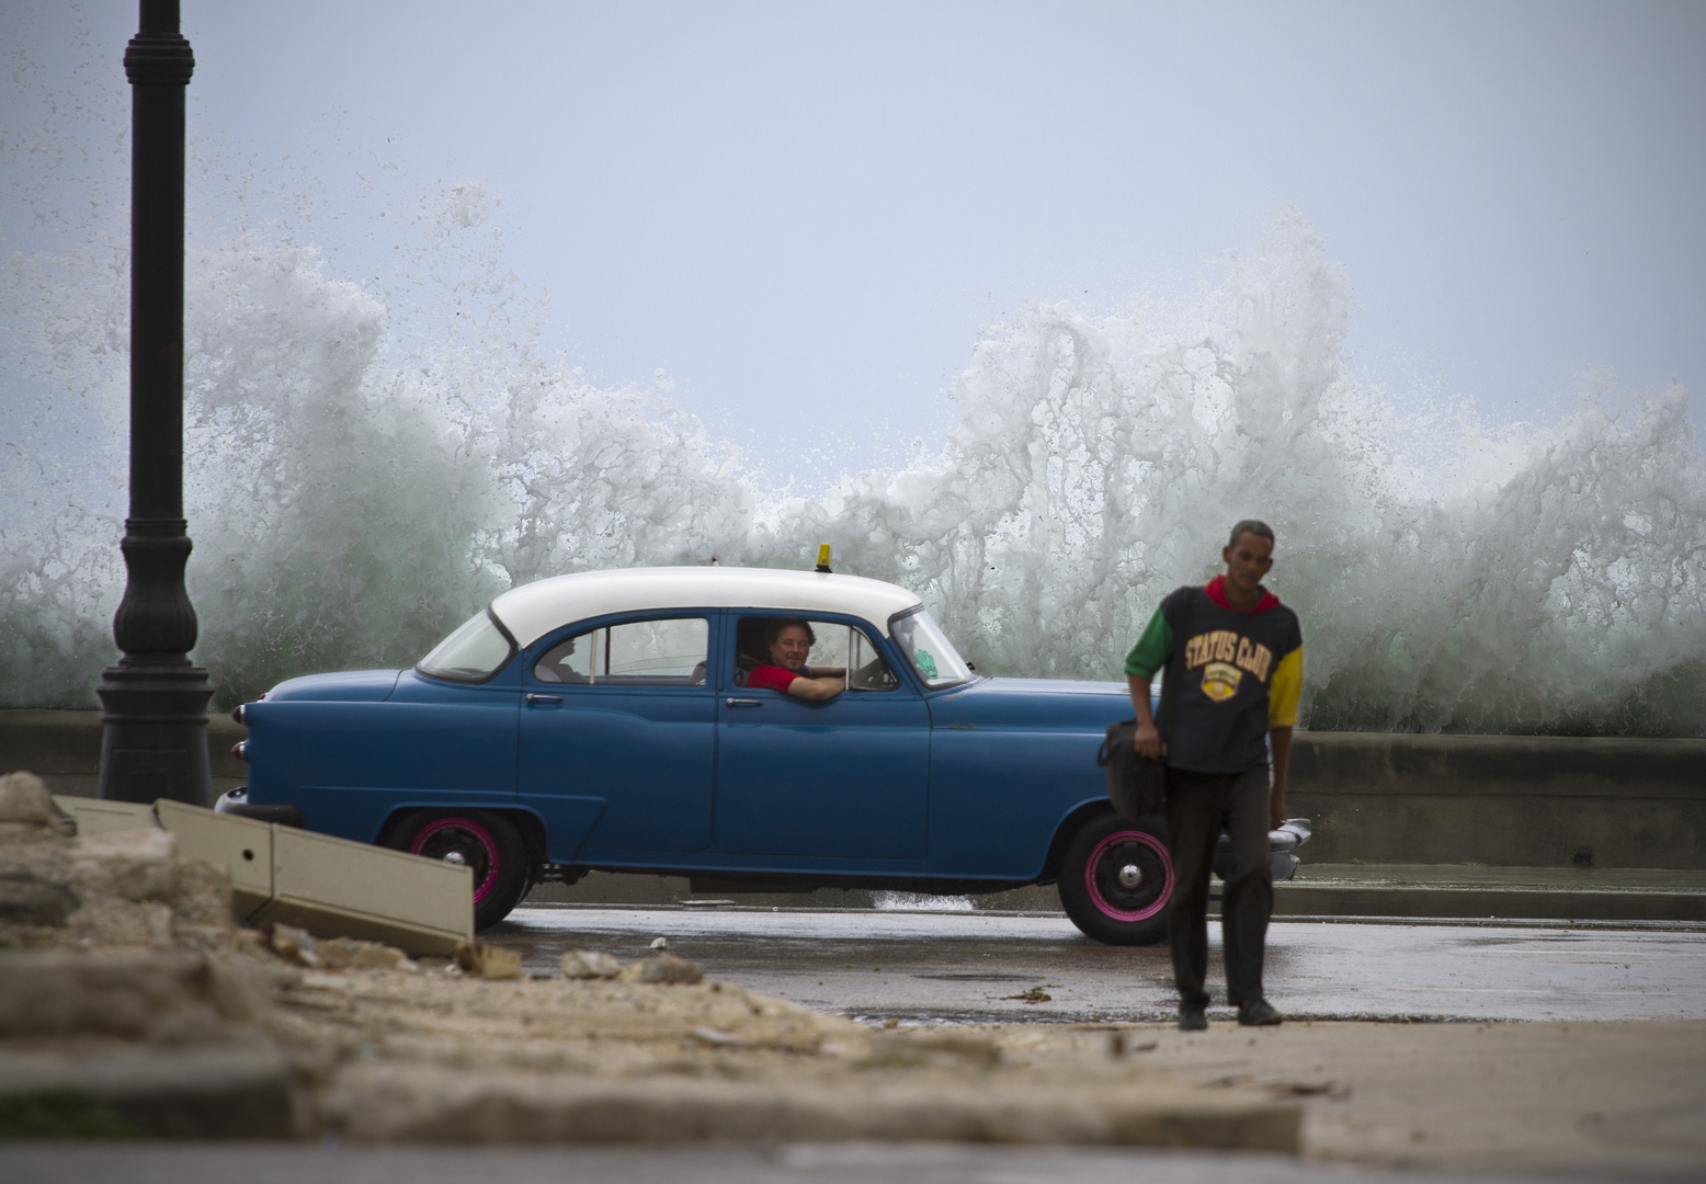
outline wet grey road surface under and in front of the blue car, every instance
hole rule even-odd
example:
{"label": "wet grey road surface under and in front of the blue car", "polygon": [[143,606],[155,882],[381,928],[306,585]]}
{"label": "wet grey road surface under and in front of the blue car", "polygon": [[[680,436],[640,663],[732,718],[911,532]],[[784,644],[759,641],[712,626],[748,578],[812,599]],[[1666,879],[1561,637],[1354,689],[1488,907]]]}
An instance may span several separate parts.
{"label": "wet grey road surface under and in front of the blue car", "polygon": [[[1165,1020],[1175,1000],[1163,947],[1097,945],[1061,916],[548,906],[486,937],[539,974],[664,937],[711,978],[860,1019]],[[1221,1003],[1215,925],[1210,940]],[[1706,1019],[1706,932],[1276,923],[1266,990],[1297,1019]]]}

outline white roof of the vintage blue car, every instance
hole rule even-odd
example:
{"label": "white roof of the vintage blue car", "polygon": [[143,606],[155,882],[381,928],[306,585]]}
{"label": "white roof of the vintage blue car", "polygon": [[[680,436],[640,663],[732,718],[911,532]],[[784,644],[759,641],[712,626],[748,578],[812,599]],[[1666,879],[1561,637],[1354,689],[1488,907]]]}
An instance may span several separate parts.
{"label": "white roof of the vintage blue car", "polygon": [[902,587],[858,575],[703,566],[554,575],[510,589],[491,602],[491,611],[517,645],[529,647],[575,621],[648,609],[843,612],[887,635],[889,618],[918,604],[918,595]]}

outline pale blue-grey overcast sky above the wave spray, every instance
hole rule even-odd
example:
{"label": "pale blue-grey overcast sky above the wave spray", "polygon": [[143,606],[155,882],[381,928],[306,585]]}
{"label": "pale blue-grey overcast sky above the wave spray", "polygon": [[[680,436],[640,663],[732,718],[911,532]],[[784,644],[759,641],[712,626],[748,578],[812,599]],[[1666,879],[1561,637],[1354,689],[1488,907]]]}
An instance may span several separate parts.
{"label": "pale blue-grey overcast sky above the wave spray", "polygon": [[[14,65],[128,104],[135,3],[7,12]],[[1703,3],[184,0],[184,34],[193,131],[483,183],[558,343],[749,449],[940,408],[1005,312],[1187,293],[1288,208],[1365,375],[1493,418],[1599,369],[1706,389]],[[312,232],[372,235],[345,215]]]}

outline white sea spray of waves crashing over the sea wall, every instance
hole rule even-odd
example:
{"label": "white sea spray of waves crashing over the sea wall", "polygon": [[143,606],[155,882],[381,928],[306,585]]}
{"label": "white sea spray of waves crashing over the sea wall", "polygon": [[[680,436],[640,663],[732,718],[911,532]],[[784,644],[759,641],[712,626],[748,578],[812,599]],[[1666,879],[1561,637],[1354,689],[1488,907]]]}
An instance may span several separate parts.
{"label": "white sea spray of waves crashing over the sea wall", "polygon": [[[229,189],[222,210],[252,193]],[[0,276],[5,706],[94,706],[114,659],[121,206],[61,218]],[[339,273],[300,210],[191,223],[189,590],[218,703],[406,665],[544,575],[798,568],[826,541],[838,570],[916,589],[981,672],[1117,679],[1153,604],[1257,515],[1303,619],[1312,727],[1706,732],[1687,392],[1602,382],[1554,425],[1488,428],[1360,384],[1348,283],[1298,217],[1192,297],[989,326],[945,442],[802,496],[665,380],[597,386],[549,355],[479,186],[384,208],[406,249],[380,280]]]}

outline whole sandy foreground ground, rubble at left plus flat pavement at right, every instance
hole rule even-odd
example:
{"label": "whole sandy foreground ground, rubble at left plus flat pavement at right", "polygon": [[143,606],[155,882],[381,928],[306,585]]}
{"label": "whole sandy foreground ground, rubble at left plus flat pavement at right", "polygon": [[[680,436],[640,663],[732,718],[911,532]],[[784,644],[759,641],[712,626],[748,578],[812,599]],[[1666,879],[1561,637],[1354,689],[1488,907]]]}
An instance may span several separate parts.
{"label": "whole sandy foreground ground, rubble at left plus flat pavement at right", "polygon": [[[99,839],[99,841],[97,841]],[[0,1138],[954,1140],[1699,1167],[1706,1024],[884,1025],[667,952],[529,976],[230,920],[160,833],[0,778]]]}

